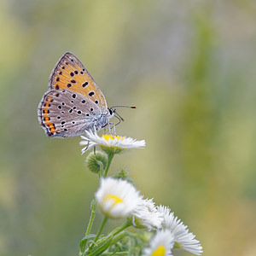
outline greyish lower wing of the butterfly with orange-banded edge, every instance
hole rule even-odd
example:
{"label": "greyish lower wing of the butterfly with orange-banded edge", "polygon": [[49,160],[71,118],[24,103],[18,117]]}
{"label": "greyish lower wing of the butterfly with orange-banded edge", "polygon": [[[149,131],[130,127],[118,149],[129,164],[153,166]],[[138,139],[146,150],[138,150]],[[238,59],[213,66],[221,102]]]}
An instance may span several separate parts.
{"label": "greyish lower wing of the butterfly with orange-banded edge", "polygon": [[38,119],[50,137],[79,136],[108,123],[95,102],[72,90],[49,90],[38,106]]}

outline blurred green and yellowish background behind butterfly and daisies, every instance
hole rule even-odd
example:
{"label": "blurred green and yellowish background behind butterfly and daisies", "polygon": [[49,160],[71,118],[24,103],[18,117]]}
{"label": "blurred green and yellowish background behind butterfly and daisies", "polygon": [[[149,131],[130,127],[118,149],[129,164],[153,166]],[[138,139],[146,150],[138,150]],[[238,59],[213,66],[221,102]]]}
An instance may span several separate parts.
{"label": "blurred green and yellowish background behind butterfly and daisies", "polygon": [[98,180],[79,137],[46,137],[37,118],[66,51],[109,107],[137,106],[117,133],[147,147],[112,172],[171,207],[204,255],[256,255],[255,1],[3,0],[0,31],[1,255],[79,253]]}

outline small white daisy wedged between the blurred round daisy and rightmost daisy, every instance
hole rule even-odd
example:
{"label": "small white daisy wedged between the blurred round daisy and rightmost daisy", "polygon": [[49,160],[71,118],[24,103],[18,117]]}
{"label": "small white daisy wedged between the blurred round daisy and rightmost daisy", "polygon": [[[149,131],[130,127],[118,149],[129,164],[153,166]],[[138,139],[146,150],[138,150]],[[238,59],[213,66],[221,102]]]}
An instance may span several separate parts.
{"label": "small white daisy wedged between the blurred round daisy and rightmost daisy", "polygon": [[154,206],[153,199],[141,198],[137,207],[132,211],[132,223],[137,228],[148,228],[148,230],[160,229],[164,215]]}

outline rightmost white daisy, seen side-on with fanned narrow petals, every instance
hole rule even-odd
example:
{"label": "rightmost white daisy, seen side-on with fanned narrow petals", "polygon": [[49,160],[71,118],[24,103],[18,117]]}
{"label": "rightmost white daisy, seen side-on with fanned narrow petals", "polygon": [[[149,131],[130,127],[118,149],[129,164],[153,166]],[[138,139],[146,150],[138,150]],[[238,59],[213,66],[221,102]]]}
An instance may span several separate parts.
{"label": "rightmost white daisy, seen side-on with fanned narrow petals", "polygon": [[158,210],[164,213],[163,229],[172,232],[177,247],[182,247],[185,251],[195,255],[201,255],[202,247],[200,241],[195,240],[195,235],[189,232],[188,226],[185,226],[180,219],[174,217],[169,207],[160,206]]}

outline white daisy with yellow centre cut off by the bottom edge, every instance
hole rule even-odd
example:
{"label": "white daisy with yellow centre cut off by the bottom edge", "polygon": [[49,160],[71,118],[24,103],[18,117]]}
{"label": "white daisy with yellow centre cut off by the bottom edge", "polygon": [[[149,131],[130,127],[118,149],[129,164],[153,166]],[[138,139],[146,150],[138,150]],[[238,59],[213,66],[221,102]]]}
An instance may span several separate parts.
{"label": "white daisy with yellow centre cut off by the bottom edge", "polygon": [[143,256],[172,256],[174,239],[170,230],[158,230],[148,248],[143,250]]}

